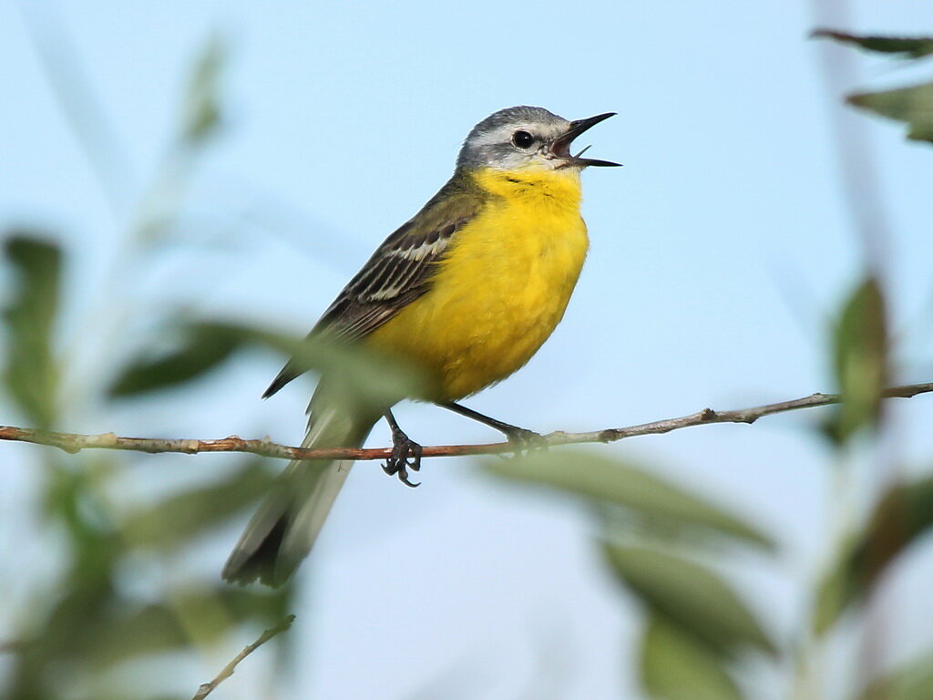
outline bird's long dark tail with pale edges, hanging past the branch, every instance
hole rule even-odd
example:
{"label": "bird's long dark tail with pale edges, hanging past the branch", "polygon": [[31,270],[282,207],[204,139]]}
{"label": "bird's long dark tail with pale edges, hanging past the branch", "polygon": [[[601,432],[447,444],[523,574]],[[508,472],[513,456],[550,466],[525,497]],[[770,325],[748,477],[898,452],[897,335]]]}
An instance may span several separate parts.
{"label": "bird's long dark tail with pale edges, hanging past the branch", "polygon": [[[302,447],[359,447],[375,424],[336,407],[313,412]],[[291,462],[237,542],[223,578],[281,586],[311,552],[353,462]]]}

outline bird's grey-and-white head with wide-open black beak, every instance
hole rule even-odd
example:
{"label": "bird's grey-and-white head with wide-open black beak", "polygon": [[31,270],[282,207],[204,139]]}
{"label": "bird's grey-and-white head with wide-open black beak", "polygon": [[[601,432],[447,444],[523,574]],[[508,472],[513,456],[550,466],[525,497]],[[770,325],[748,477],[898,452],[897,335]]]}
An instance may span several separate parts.
{"label": "bird's grey-and-white head with wide-open black beak", "polygon": [[580,158],[583,151],[576,156],[570,153],[570,145],[578,135],[614,114],[567,121],[542,107],[500,109],[480,121],[466,136],[457,167],[508,171],[567,169],[578,173],[589,165],[619,165]]}

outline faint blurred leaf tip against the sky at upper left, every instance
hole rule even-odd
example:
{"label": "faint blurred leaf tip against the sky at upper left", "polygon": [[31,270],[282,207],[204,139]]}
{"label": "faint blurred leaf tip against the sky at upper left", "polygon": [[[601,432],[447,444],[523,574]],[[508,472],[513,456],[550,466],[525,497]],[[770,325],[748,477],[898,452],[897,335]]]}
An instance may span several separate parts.
{"label": "faint blurred leaf tip against the sky at upper left", "polygon": [[220,77],[227,64],[227,48],[212,36],[198,56],[188,78],[182,118],[182,140],[197,144],[213,135],[221,122]]}

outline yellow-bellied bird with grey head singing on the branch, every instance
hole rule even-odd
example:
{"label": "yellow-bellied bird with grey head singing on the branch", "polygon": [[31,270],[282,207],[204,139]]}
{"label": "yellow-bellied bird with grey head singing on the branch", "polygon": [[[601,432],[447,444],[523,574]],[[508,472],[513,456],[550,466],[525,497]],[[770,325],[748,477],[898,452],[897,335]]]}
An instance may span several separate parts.
{"label": "yellow-bellied bird with grey head singing on the branch", "polygon": [[[401,399],[438,404],[519,445],[540,439],[458,401],[522,368],[563,318],[589,248],[580,173],[619,165],[583,158],[586,148],[572,155],[570,147],[614,115],[570,121],[520,105],[473,127],[450,180],[385,239],[308,335],[312,343],[404,362],[422,381],[365,400],[341,390],[352,372],[322,371],[302,447],[360,447],[384,416],[393,452],[383,469],[417,485],[408,470],[419,469],[421,446],[391,412]],[[296,354],[263,398],[309,369]],[[351,466],[291,462],[230,554],[223,579],[284,584],[311,552]]]}

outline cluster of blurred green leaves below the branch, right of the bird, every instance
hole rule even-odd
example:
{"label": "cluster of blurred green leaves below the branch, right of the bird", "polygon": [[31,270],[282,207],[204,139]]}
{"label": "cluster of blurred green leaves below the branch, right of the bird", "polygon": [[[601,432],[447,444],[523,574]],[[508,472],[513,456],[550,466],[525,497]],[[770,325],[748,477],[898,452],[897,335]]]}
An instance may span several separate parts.
{"label": "cluster of blurred green leaves below the branch, right of the bird", "polygon": [[703,563],[735,549],[772,555],[773,539],[756,525],[606,455],[554,449],[485,468],[574,497],[598,515],[607,569],[647,611],[641,679],[652,697],[742,698],[737,661],[780,657],[758,615]]}

